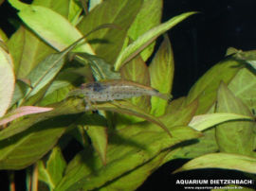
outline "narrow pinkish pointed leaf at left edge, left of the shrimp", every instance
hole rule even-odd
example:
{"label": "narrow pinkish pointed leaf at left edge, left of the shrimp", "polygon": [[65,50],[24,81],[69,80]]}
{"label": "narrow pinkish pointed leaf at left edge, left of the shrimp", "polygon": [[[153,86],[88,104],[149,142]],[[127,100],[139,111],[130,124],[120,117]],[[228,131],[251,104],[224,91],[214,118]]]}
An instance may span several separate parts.
{"label": "narrow pinkish pointed leaf at left edge, left of the shrimp", "polygon": [[27,114],[33,114],[33,113],[46,113],[53,110],[53,108],[43,108],[43,107],[36,107],[36,106],[23,106],[20,108],[17,108],[16,110],[6,114],[2,118],[0,118],[0,126],[5,125],[9,123],[10,121],[13,121],[16,118],[19,118],[21,116],[25,116]]}

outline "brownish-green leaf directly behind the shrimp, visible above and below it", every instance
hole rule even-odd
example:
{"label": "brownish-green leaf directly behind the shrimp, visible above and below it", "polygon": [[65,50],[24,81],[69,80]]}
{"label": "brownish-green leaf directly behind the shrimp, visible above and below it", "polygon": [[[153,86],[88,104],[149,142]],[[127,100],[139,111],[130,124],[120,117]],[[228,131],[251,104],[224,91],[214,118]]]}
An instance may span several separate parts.
{"label": "brownish-green leaf directly behind the shrimp, visible above and below it", "polygon": [[[124,65],[120,70],[120,74],[124,79],[150,86],[150,75],[148,67],[139,56]],[[145,112],[150,111],[150,96],[133,97],[132,103],[143,109]]]}

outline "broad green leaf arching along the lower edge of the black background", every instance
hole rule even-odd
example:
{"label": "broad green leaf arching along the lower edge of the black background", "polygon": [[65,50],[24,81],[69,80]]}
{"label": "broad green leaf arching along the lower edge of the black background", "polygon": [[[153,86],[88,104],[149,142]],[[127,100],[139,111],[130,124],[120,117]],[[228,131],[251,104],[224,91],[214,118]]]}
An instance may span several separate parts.
{"label": "broad green leaf arching along the lower edge of the black background", "polygon": [[192,86],[185,105],[198,99],[199,107],[196,114],[204,114],[216,100],[217,90],[221,81],[229,84],[229,81],[236,75],[243,65],[232,58],[221,61],[214,65],[210,70]]}

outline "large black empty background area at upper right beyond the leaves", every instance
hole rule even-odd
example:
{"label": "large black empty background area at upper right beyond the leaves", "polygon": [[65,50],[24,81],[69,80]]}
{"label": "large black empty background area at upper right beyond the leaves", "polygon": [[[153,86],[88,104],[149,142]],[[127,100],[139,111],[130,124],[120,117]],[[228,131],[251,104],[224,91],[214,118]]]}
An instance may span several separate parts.
{"label": "large black empty background area at upper right beyond the leaves", "polygon": [[186,19],[168,34],[174,48],[174,96],[186,95],[192,84],[232,46],[256,47],[255,0],[164,0],[163,21],[186,11]]}

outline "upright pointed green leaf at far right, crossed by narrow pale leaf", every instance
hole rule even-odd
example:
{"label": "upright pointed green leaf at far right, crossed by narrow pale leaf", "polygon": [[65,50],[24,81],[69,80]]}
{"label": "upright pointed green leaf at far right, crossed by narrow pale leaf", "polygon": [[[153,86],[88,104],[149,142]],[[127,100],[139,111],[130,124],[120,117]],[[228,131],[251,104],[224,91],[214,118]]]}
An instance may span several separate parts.
{"label": "upright pointed green leaf at far right, crossed by narrow pale leaf", "polygon": [[[228,87],[221,83],[218,91],[218,113],[237,113],[252,117],[247,106]],[[251,155],[254,149],[255,123],[252,121],[227,122],[216,127],[216,140],[223,152]]]}

